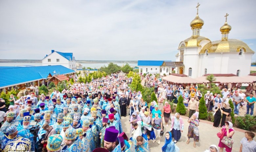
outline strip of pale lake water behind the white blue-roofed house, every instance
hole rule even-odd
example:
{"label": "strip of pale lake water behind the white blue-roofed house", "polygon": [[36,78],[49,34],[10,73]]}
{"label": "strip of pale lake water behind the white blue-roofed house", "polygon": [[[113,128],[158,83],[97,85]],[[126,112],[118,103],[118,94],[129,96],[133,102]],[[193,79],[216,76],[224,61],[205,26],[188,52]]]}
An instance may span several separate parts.
{"label": "strip of pale lake water behind the white blue-roofed house", "polygon": [[[125,63],[116,63],[118,66],[123,66]],[[138,66],[137,63],[128,63],[130,66]],[[100,68],[104,65],[107,67],[108,63],[81,63],[85,68]],[[0,63],[0,67],[17,67],[17,66],[42,66],[42,63]]]}

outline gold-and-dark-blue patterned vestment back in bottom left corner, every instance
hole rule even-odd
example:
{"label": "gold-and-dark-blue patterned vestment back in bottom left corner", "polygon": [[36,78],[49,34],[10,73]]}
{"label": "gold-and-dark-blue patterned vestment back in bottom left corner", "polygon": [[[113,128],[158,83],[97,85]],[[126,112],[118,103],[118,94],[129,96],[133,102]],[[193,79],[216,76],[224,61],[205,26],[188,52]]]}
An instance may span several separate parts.
{"label": "gold-and-dark-blue patterned vestment back in bottom left corner", "polygon": [[16,138],[9,142],[3,151],[30,151],[31,141],[28,138]]}

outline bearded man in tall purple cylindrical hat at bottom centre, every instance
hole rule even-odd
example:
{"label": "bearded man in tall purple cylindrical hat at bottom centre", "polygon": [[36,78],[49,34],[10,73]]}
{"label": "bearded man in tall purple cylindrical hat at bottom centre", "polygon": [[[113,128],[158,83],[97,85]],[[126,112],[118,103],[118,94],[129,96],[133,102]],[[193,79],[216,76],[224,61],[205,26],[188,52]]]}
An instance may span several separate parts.
{"label": "bearded man in tall purple cylindrical hat at bottom centre", "polygon": [[113,128],[107,128],[104,136],[104,148],[110,152],[120,152],[120,140],[117,138],[119,131]]}

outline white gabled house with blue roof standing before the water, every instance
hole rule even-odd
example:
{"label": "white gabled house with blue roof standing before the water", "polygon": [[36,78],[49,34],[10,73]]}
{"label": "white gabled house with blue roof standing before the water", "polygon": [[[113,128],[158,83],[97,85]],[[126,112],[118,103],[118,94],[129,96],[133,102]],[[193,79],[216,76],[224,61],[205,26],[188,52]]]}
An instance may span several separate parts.
{"label": "white gabled house with blue roof standing before the water", "polygon": [[75,70],[76,63],[73,53],[63,53],[52,50],[52,53],[42,59],[43,66],[62,65],[63,67]]}

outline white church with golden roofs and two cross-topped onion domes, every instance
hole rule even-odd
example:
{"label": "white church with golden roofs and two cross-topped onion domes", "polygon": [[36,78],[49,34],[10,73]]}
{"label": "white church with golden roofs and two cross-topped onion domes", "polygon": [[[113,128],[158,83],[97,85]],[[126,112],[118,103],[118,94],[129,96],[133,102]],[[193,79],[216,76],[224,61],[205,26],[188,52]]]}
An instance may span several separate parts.
{"label": "white church with golden roofs and two cross-topped onion domes", "polygon": [[[199,6],[199,5],[198,5]],[[198,8],[198,7],[197,7]],[[231,26],[226,21],[220,28],[220,40],[211,41],[200,36],[203,20],[198,16],[190,23],[192,36],[181,41],[177,62],[184,66],[178,67],[179,74],[189,77],[201,77],[204,74],[236,74],[246,76],[250,74],[251,58],[254,54],[246,43],[237,39],[229,39]]]}

